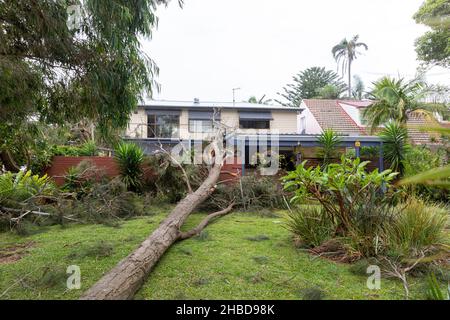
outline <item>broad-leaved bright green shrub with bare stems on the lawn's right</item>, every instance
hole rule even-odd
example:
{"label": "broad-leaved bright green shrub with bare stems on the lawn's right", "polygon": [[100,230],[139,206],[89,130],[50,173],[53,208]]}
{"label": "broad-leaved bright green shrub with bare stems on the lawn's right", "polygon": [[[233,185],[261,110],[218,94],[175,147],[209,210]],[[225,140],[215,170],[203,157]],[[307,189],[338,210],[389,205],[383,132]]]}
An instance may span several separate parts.
{"label": "broad-leaved bright green shrub with bare stems on the lawn's right", "polygon": [[[307,168],[306,161],[283,178],[284,188],[293,191],[294,203],[318,201],[337,226],[336,234],[348,235],[355,229],[379,227],[392,205],[390,182],[397,173],[391,170],[367,172],[369,162],[341,158],[340,164]],[[389,195],[388,195],[389,194]]]}

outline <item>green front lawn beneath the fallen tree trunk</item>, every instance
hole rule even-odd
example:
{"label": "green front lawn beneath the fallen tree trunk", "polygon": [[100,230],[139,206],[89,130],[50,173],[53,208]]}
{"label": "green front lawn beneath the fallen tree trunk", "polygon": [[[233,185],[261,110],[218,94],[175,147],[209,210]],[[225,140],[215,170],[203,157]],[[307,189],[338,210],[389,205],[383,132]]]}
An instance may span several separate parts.
{"label": "green front lawn beneath the fallen tree trunk", "polygon": [[[22,259],[0,264],[0,299],[76,299],[103,273],[127,256],[164,218],[166,210],[103,225],[54,226],[23,237],[0,233],[0,253],[33,242]],[[164,211],[164,212],[162,212]],[[232,213],[207,227],[207,234],[172,246],[136,299],[301,299],[311,287],[326,299],[402,299],[396,280],[382,279],[381,290],[366,287],[366,277],[348,265],[317,258],[294,248],[279,217]],[[202,214],[194,214],[185,228]],[[257,240],[257,241],[255,241]],[[103,242],[101,242],[103,241]],[[65,288],[68,265],[81,269],[81,290]],[[411,298],[423,298],[422,280],[410,279]]]}

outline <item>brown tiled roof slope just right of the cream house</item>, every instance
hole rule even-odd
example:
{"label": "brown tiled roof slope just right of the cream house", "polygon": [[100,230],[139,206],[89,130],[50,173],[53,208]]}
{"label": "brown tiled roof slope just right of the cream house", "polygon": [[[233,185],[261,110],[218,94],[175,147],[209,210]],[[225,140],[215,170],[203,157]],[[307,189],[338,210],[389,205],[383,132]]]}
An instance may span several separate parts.
{"label": "brown tiled roof slope just right of the cream house", "polygon": [[333,129],[342,135],[366,135],[365,130],[339,105],[338,100],[304,99],[322,130]]}

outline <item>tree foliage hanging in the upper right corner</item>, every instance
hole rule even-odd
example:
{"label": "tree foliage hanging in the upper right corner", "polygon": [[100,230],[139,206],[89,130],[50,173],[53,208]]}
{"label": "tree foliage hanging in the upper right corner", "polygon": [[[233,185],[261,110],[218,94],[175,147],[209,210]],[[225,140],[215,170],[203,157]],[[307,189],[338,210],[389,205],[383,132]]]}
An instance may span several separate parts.
{"label": "tree foliage hanging in the upper right corner", "polygon": [[417,23],[432,30],[416,40],[419,60],[442,67],[450,66],[450,7],[446,0],[426,0],[414,15]]}

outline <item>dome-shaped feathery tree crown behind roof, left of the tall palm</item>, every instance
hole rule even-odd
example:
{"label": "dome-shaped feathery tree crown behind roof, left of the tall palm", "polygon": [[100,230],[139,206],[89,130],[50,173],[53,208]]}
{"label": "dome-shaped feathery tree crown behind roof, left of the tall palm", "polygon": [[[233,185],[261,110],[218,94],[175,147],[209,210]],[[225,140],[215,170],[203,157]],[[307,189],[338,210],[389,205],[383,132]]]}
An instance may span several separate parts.
{"label": "dome-shaped feathery tree crown behind roof, left of the tall palm", "polygon": [[325,68],[312,67],[299,72],[293,77],[293,83],[283,88],[279,95],[287,102],[280,102],[282,105],[298,107],[302,99],[317,97],[320,90],[328,85],[335,87],[339,95],[347,89],[339,75]]}

